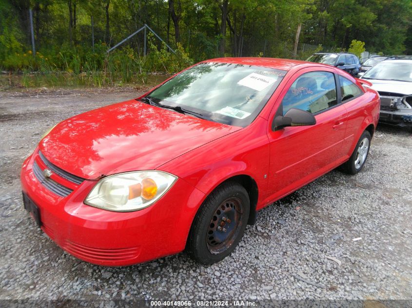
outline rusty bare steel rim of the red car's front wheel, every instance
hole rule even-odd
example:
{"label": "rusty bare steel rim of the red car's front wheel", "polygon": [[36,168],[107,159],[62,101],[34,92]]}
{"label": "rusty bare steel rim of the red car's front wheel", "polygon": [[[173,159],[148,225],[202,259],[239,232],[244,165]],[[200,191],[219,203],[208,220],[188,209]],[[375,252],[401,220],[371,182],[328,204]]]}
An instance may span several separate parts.
{"label": "rusty bare steel rim of the red car's front wheel", "polygon": [[234,243],[242,227],[242,218],[243,206],[239,198],[226,199],[217,207],[206,234],[210,253],[220,254]]}

